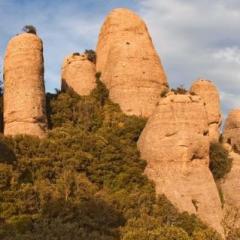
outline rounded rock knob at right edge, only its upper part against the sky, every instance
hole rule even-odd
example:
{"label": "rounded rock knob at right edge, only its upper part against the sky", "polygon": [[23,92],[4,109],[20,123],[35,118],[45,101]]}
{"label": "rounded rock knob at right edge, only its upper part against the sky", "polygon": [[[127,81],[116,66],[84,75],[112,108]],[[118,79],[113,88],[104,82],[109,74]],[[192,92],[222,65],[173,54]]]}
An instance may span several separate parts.
{"label": "rounded rock knob at right edge, only its upper part against the sky", "polygon": [[224,125],[223,138],[224,142],[240,152],[240,109],[229,113]]}

